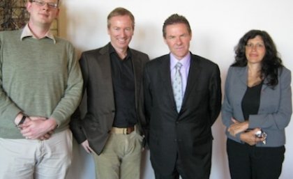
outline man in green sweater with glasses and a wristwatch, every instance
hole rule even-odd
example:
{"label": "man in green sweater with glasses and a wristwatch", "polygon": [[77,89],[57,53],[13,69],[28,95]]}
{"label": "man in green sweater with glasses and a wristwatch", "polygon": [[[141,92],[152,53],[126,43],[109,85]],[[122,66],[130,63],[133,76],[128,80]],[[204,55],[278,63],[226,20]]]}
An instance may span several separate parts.
{"label": "man in green sweater with glasses and a wristwatch", "polygon": [[24,29],[0,32],[0,179],[66,178],[82,74],[73,45],[50,33],[59,1],[27,10]]}

